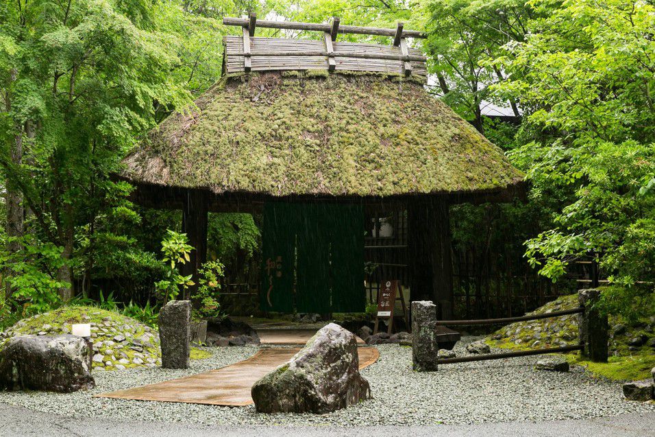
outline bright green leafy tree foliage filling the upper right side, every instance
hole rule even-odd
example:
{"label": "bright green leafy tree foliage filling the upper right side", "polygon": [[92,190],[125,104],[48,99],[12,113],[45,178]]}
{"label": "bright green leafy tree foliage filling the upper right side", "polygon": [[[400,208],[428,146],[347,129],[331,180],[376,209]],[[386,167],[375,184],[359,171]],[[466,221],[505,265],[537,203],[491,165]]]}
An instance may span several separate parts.
{"label": "bright green leafy tree foliage filling the upper right side", "polygon": [[499,95],[524,102],[533,140],[510,157],[526,169],[530,196],[555,197],[554,226],[526,255],[558,279],[594,254],[613,281],[655,280],[655,8],[641,1],[533,1],[551,8],[530,34],[489,62],[510,73]]}

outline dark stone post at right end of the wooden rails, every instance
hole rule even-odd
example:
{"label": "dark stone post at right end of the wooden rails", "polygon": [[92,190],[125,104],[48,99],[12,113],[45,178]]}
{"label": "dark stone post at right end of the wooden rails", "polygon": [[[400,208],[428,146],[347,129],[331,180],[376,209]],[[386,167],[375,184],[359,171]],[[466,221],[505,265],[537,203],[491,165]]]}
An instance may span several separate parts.
{"label": "dark stone post at right end of the wooden rails", "polygon": [[580,343],[584,344],[582,356],[593,362],[607,362],[608,322],[600,314],[595,303],[600,298],[599,290],[578,291],[578,303],[584,308],[579,317]]}

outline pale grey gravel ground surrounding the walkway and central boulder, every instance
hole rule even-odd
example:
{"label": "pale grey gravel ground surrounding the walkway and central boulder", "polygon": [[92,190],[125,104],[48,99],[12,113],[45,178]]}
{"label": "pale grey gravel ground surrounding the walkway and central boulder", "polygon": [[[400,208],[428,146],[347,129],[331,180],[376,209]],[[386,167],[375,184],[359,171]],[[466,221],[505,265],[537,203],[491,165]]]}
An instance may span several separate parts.
{"label": "pale grey gravel ground surrounding the walkway and central boulder", "polygon": [[[462,339],[455,348],[465,355]],[[238,362],[254,346],[211,349],[209,359],[192,361],[188,370],[127,369],[96,373],[97,387],[86,392],[2,392],[0,402],[63,416],[234,425],[432,425],[617,416],[655,412],[654,403],[625,401],[621,384],[593,379],[581,368],[569,373],[539,372],[539,357],[449,364],[435,373],[411,371],[411,349],[380,345],[380,360],[362,370],[373,397],[331,414],[258,414],[254,406],[215,407],[185,403],[92,398],[93,394],[200,373]]]}

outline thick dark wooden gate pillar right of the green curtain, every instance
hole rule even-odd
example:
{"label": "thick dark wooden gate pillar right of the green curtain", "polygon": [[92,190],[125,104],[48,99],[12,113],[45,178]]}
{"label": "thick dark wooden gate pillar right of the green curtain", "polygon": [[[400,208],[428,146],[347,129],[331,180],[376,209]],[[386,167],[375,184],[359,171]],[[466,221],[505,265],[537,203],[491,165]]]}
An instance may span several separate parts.
{"label": "thick dark wooden gate pillar right of the green curtain", "polygon": [[432,300],[442,320],[452,318],[454,300],[448,206],[442,196],[407,206],[411,300]]}

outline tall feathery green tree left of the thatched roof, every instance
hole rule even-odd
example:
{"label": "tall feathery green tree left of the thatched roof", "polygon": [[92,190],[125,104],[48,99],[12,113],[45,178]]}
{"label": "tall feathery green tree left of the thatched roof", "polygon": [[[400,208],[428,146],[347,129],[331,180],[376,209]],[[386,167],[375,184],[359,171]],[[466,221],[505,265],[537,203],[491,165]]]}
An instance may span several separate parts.
{"label": "tall feathery green tree left of the thatched roof", "polygon": [[[125,194],[109,176],[153,126],[156,107],[189,102],[169,74],[180,41],[156,32],[165,12],[166,3],[147,1],[19,0],[0,8],[0,167],[35,234],[63,248],[61,283],[73,282],[75,226],[90,225],[92,237],[95,217]],[[70,285],[61,295],[71,298]]]}

